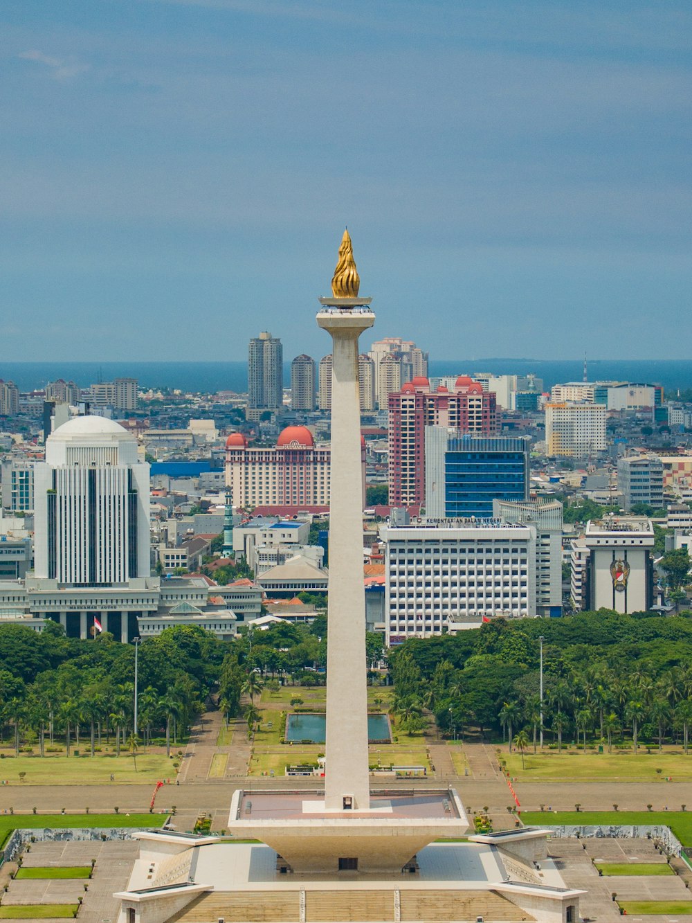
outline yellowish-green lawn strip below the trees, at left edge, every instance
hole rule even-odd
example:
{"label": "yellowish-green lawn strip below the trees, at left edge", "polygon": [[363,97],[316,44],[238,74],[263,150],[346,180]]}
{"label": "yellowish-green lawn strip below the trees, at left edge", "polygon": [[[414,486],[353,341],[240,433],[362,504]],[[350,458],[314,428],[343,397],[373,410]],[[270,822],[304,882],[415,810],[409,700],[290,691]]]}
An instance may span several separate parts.
{"label": "yellowish-green lawn strip below the trees, at left edge", "polygon": [[[137,762],[137,768],[135,767]],[[24,781],[19,773],[26,773]],[[114,781],[111,782],[111,773]],[[137,753],[137,761],[130,753],[121,751],[90,756],[12,756],[0,760],[0,779],[6,785],[116,785],[157,782],[173,779],[173,760],[165,753]]]}

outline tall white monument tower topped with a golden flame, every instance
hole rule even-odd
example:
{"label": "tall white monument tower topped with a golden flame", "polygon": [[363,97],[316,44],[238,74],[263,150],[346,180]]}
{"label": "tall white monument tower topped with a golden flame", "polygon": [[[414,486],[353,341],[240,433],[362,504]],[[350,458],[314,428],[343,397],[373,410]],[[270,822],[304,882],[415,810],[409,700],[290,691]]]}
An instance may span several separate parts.
{"label": "tall white monument tower topped with a golden flame", "polygon": [[[333,297],[320,298],[317,323],[333,342],[331,373],[331,494],[327,653],[327,810],[367,810],[365,595],[358,338],[372,327],[371,298],[358,295],[360,279],[351,237],[344,231],[331,281]],[[353,665],[357,668],[354,670]],[[361,669],[361,667],[363,667]]]}

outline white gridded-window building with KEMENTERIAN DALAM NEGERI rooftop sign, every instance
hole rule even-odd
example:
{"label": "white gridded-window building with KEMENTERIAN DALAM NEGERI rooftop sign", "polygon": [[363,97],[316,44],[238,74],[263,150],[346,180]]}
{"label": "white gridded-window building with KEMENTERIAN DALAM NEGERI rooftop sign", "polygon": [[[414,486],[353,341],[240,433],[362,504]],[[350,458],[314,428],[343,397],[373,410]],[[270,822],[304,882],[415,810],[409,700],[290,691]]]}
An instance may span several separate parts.
{"label": "white gridded-window building with KEMENTERIAN DALAM NEGERI rooftop sign", "polygon": [[496,520],[382,526],[387,644],[536,615],[536,527]]}

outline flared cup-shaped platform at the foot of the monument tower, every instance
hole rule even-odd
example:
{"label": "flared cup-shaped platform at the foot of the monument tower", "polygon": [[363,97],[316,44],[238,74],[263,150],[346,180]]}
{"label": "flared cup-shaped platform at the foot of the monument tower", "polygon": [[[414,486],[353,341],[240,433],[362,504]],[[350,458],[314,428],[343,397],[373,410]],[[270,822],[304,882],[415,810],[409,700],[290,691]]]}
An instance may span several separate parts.
{"label": "flared cup-shaped platform at the foot of the monument tower", "polygon": [[320,792],[236,791],[228,822],[234,836],[261,840],[295,874],[401,872],[441,837],[469,831],[453,789],[383,792],[369,810],[327,809]]}

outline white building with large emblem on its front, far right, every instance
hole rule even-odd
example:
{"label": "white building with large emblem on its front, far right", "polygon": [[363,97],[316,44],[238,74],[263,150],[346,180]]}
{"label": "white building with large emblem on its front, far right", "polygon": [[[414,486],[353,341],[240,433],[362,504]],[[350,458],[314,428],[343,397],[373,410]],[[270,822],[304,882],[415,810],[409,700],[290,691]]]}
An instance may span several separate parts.
{"label": "white building with large emblem on its front, far right", "polygon": [[623,614],[653,605],[653,526],[635,516],[589,521],[573,546],[572,602],[575,608],[614,609]]}

